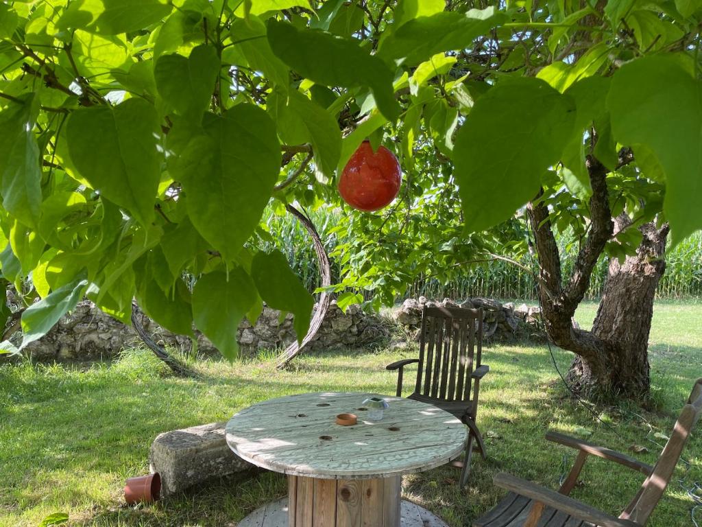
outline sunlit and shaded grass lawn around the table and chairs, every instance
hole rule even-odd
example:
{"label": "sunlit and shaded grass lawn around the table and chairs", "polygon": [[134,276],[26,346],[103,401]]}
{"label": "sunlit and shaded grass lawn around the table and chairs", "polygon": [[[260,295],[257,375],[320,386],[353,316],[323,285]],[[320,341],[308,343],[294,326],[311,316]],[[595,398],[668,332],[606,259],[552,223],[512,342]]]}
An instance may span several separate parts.
{"label": "sunlit and shaded grass lawn around the table and chairs", "polygon": [[[578,312],[588,327],[595,304]],[[476,457],[469,486],[458,490],[458,471],[440,467],[403,480],[404,497],[468,526],[503,495],[491,482],[497,471],[555,488],[574,460],[567,448],[549,444],[549,428],[588,438],[645,462],[656,459],[694,379],[702,376],[702,305],[656,305],[651,332],[651,376],[660,409],[622,405],[592,409],[571,401],[559,385],[545,346],[491,346],[491,372],[481,386],[478,423],[489,460]],[[53,512],[70,514],[76,526],[235,526],[256,507],[286,493],[284,476],[267,471],[213,481],[150,506],[126,507],[124,480],[145,474],[151,442],[161,431],[225,420],[263,399],[305,391],[369,391],[392,394],[395,375],[386,364],[416,351],[309,353],[289,371],[270,361],[229,365],[198,363],[197,379],[165,375],[147,353],[127,353],[111,364],[0,366],[0,526],[37,526]],[[555,349],[563,372],[571,355]],[[407,375],[409,389],[412,375]],[[658,436],[656,436],[658,434]],[[649,451],[635,454],[641,445]],[[702,481],[702,428],[691,439],[652,527],[691,525],[688,486]],[[591,458],[574,497],[611,513],[628,503],[642,476]],[[702,511],[698,511],[702,519]]]}

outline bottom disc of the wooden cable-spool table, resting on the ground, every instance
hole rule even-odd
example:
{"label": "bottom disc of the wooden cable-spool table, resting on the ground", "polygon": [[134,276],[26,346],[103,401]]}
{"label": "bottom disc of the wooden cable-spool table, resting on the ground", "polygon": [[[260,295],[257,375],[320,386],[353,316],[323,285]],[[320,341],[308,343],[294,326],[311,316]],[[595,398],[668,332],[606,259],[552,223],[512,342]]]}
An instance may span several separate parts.
{"label": "bottom disc of the wooden cable-spool table, resting on the ground", "polygon": [[[446,523],[427,509],[402,500],[400,506],[401,527],[448,527]],[[333,523],[314,523],[314,527],[327,527]],[[237,527],[289,527],[288,498],[270,502],[246,516]],[[385,527],[385,523],[373,527]]]}

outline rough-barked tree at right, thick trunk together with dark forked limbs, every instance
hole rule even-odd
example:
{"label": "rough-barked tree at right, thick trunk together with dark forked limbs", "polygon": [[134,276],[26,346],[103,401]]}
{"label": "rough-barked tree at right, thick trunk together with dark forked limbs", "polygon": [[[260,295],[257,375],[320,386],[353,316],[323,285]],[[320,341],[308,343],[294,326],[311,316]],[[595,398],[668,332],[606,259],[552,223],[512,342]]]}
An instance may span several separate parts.
{"label": "rough-barked tree at right, thick trunk together with dark forked limbs", "polygon": [[[620,166],[631,160],[630,150],[622,149]],[[588,290],[592,270],[607,242],[629,225],[627,216],[612,219],[607,188],[610,169],[592,155],[588,155],[586,165],[592,187],[590,222],[569,276],[562,273],[543,191],[527,206],[538,254],[541,315],[550,340],[576,354],[569,370],[573,391],[591,399],[644,401],[649,394],[648,337],[656,286],[665,271],[668,226],[641,226],[643,239],[637,254],[622,264],[611,261],[592,330],[581,330],[573,316]]]}

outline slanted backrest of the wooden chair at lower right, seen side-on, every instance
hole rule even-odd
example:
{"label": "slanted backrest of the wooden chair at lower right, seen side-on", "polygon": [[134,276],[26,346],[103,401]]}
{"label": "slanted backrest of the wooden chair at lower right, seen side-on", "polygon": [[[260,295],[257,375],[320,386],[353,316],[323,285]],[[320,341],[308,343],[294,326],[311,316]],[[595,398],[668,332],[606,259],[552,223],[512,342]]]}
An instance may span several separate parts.
{"label": "slanted backrest of the wooden chair at lower right, seen side-on", "polygon": [[670,435],[668,443],[665,443],[663,452],[658,457],[654,469],[644,481],[629,506],[621,514],[621,518],[646,525],[651,512],[658,505],[658,501],[661,500],[665,487],[670,483],[670,478],[673,477],[673,471],[675,471],[675,465],[680,459],[682,449],[701,415],[702,379],[697,379],[687,399],[687,404],[684,405],[682,412],[680,412],[680,417],[675,422],[673,434]]}

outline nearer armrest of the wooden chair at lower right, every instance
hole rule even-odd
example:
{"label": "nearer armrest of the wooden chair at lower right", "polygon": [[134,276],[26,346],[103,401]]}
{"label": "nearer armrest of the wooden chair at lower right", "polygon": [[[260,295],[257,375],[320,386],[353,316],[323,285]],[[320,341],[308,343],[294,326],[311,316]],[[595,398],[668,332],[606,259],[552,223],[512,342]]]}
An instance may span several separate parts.
{"label": "nearer armrest of the wooden chair at lower right", "polygon": [[639,523],[615,518],[606,512],[595,509],[595,507],[590,507],[586,503],[574,500],[572,497],[557,493],[555,490],[550,490],[550,488],[536,485],[536,483],[531,483],[531,481],[517,478],[512,476],[512,474],[500,472],[494,476],[492,481],[498,487],[529,497],[532,500],[543,503],[547,507],[553,507],[577,519],[589,521],[600,527],[641,527]]}

